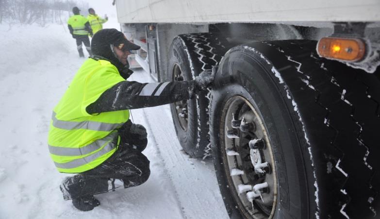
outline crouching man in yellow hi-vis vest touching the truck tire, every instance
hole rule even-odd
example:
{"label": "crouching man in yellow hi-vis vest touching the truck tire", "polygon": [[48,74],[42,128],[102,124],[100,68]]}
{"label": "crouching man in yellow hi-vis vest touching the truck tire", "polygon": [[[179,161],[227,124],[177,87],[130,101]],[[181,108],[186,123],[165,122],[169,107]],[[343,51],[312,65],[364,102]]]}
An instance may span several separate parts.
{"label": "crouching man in yellow hi-vis vest touching the truck tire", "polygon": [[141,153],[147,147],[147,132],[131,122],[129,110],[191,99],[214,80],[216,67],[192,81],[127,81],[133,72],[128,55],[139,48],[116,29],[94,34],[94,55],[79,68],[53,110],[50,156],[58,171],[78,173],[66,177],[60,188],[64,199],[71,199],[79,210],[100,204],[94,194],[148,180],[149,160]]}

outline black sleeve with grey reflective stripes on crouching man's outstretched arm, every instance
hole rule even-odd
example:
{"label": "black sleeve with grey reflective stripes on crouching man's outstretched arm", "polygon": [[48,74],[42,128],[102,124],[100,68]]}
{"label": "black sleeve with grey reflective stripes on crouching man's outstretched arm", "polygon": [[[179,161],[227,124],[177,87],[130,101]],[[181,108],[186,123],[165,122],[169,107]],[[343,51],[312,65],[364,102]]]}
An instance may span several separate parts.
{"label": "black sleeve with grey reflective stripes on crouching man's outstretched arm", "polygon": [[192,98],[198,91],[195,81],[138,83],[123,81],[86,107],[89,114],[159,106]]}

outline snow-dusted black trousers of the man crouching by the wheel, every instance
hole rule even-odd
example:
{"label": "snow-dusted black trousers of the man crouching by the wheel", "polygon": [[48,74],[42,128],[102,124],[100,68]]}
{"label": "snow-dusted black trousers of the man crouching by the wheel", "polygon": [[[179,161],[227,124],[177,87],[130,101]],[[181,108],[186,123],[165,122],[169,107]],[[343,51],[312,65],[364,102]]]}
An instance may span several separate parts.
{"label": "snow-dusted black trousers of the man crouching by the wheel", "polygon": [[66,177],[61,184],[65,200],[132,187],[146,182],[150,175],[149,160],[127,143],[96,168]]}

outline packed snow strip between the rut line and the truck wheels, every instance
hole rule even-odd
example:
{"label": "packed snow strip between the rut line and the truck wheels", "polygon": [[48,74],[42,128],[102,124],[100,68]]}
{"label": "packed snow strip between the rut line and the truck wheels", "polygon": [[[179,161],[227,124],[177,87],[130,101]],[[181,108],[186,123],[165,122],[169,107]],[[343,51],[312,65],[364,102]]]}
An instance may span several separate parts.
{"label": "packed snow strip between the rut line and the truck wheels", "polygon": [[212,162],[182,154],[172,119],[163,106],[144,108],[143,112],[149,135],[153,135],[158,156],[164,161],[184,217],[228,218]]}

